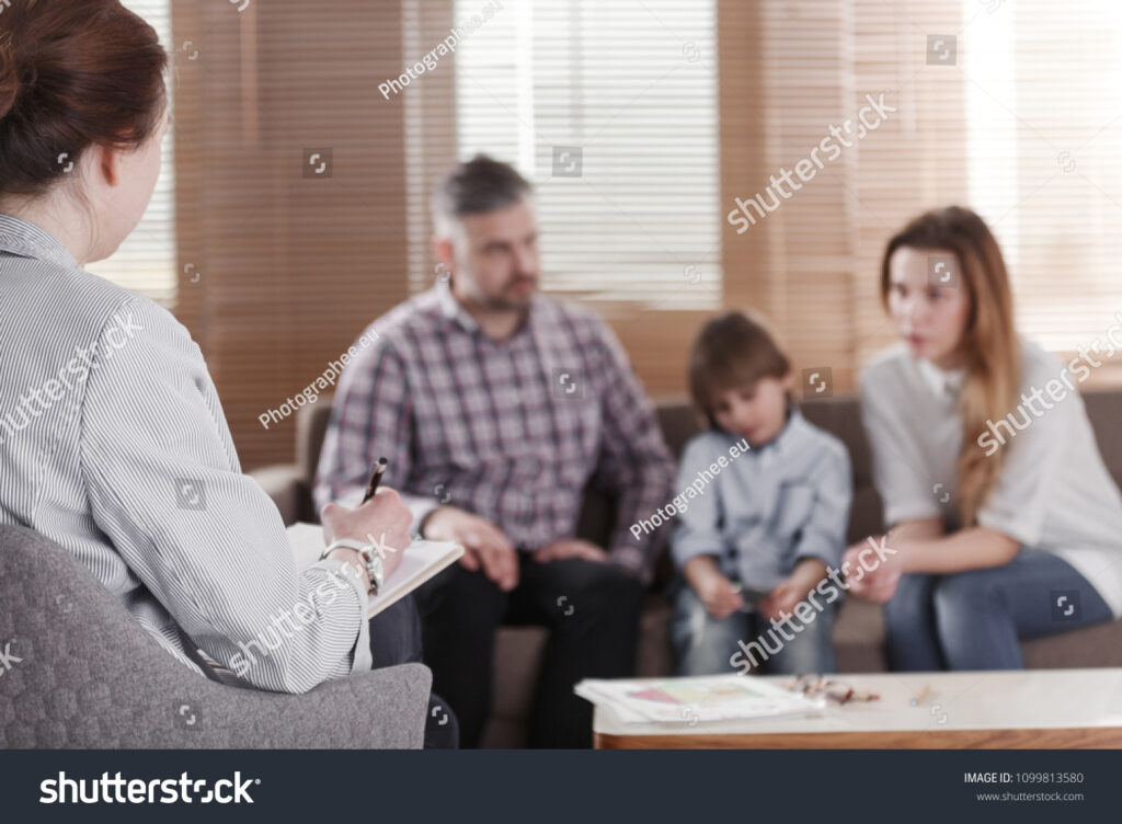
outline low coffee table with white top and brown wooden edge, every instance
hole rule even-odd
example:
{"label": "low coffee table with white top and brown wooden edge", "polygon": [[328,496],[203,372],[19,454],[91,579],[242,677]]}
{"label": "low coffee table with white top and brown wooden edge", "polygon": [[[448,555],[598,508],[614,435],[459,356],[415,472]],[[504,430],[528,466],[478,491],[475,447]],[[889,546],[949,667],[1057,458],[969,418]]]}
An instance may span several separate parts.
{"label": "low coffee table with white top and brown wooden edge", "polygon": [[[748,676],[775,683],[784,676]],[[1122,668],[839,675],[879,701],[819,715],[624,724],[598,706],[598,749],[1119,749]],[[665,680],[665,679],[656,679]],[[912,698],[925,685],[927,698]]]}

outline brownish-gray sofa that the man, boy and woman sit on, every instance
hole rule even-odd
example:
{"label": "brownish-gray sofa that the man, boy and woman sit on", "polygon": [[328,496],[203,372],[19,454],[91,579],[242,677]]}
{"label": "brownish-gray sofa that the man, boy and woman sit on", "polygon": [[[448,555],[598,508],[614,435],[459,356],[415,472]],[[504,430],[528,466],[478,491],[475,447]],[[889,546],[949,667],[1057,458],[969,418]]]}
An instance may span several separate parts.
{"label": "brownish-gray sofa that the man, boy and woman sit on", "polygon": [[[1118,483],[1122,479],[1122,434],[1115,422],[1122,420],[1122,391],[1088,392],[1084,394],[1084,400],[1100,449]],[[305,406],[298,413],[295,464],[265,467],[251,473],[277,503],[286,522],[315,520],[311,484],[327,431],[330,404],[331,399],[322,396],[316,404]],[[853,457],[850,542],[879,532],[882,530],[881,501],[872,486],[868,445],[861,425],[856,399],[809,400],[801,408],[811,422],[840,438]],[[684,401],[666,401],[657,404],[657,414],[666,443],[675,456],[680,455],[682,447],[698,430],[691,409]],[[578,533],[603,544],[613,523],[611,516],[611,502],[589,489]],[[637,671],[641,676],[664,676],[670,672],[668,606],[660,594],[660,584],[664,584],[669,575],[668,566],[663,559],[661,576],[647,596],[642,616],[637,658]],[[495,695],[491,715],[484,732],[484,745],[524,744],[525,718],[528,716],[544,642],[545,631],[540,628],[511,626],[499,631],[495,656]],[[834,628],[834,643],[838,671],[884,671],[886,665],[881,607],[855,598],[846,601]],[[1027,640],[1022,644],[1022,651],[1027,665],[1033,668],[1122,666],[1122,621]]]}

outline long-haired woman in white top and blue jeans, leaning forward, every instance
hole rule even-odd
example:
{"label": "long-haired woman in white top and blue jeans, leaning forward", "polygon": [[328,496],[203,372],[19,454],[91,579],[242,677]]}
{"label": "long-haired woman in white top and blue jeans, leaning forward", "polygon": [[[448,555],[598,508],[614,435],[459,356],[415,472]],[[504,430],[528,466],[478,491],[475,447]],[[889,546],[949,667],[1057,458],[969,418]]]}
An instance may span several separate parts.
{"label": "long-haired woman in white top and blue jeans, leaning forward", "polygon": [[1122,615],[1122,496],[1077,388],[1089,367],[1017,335],[983,220],[912,220],[881,295],[902,345],[866,367],[861,403],[895,553],[850,592],[885,604],[890,666],[1015,669],[1019,639]]}

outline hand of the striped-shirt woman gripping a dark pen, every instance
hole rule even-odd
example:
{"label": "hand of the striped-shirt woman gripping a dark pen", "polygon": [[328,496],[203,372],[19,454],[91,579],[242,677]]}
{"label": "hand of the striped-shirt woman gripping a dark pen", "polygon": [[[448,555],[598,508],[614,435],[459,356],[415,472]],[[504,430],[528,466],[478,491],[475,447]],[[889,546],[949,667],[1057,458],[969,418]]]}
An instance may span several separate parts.
{"label": "hand of the striped-shirt woman gripping a dark pen", "polygon": [[[329,546],[338,538],[350,538],[381,547],[381,568],[387,578],[401,565],[402,553],[410,546],[413,513],[388,486],[378,489],[373,498],[353,510],[334,503],[328,504],[320,511],[320,520],[323,522],[323,540]],[[370,588],[366,562],[357,550],[340,548],[328,557],[351,564],[361,573],[367,589]]]}

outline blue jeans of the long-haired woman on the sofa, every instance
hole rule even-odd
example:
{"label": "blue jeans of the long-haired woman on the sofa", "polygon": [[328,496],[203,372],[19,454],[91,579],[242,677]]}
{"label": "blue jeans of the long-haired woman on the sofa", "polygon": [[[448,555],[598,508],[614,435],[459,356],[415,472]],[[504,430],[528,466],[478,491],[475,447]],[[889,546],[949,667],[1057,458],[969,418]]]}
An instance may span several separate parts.
{"label": "blue jeans of the long-haired woman on the sofa", "polygon": [[1021,669],[1020,639],[1111,619],[1070,564],[1022,547],[1003,567],[902,576],[884,605],[889,668]]}

